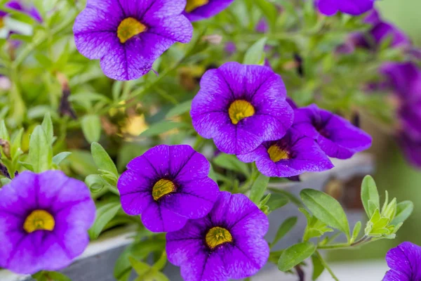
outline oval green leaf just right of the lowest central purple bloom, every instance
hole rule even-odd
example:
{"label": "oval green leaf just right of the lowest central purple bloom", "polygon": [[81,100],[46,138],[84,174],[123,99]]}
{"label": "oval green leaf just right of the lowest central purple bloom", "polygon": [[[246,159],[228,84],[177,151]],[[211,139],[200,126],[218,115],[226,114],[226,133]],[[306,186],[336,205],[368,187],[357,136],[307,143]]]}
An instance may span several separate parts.
{"label": "oval green leaf just right of the lowest central purple bloom", "polygon": [[278,261],[279,270],[285,272],[294,268],[316,251],[312,242],[302,242],[285,249]]}

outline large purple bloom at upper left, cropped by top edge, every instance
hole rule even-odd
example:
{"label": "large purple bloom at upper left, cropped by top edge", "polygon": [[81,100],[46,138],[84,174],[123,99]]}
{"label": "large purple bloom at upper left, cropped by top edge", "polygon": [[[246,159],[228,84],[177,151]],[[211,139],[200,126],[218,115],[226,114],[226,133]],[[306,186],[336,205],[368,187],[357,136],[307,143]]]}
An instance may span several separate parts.
{"label": "large purple bloom at upper left, cropped by top edge", "polygon": [[192,39],[185,6],[186,0],[88,0],[74,22],[76,48],[100,59],[108,77],[137,79],[176,41]]}

